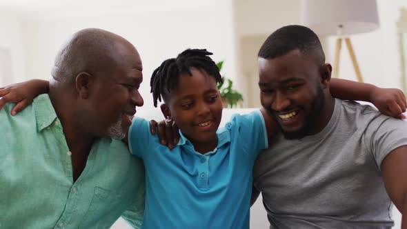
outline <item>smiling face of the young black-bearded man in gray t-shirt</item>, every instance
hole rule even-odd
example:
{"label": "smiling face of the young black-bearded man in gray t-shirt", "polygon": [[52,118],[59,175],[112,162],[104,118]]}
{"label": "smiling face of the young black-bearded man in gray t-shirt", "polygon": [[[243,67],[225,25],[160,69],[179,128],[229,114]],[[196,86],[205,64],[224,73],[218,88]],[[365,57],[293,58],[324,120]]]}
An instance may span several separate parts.
{"label": "smiling face of the young black-bearded man in gray t-shirt", "polygon": [[325,106],[329,77],[321,77],[322,66],[316,62],[299,50],[274,59],[259,57],[261,105],[287,139],[315,134],[329,120]]}

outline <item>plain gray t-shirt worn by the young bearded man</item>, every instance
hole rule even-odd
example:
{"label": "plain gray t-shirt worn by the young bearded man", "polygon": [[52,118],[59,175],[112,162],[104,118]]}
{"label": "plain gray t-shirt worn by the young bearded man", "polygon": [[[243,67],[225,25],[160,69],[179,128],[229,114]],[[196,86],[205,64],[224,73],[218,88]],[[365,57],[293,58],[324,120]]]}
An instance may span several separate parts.
{"label": "plain gray t-shirt worn by the young bearded man", "polygon": [[339,99],[317,135],[276,135],[253,168],[270,228],[391,228],[380,164],[405,145],[407,121]]}

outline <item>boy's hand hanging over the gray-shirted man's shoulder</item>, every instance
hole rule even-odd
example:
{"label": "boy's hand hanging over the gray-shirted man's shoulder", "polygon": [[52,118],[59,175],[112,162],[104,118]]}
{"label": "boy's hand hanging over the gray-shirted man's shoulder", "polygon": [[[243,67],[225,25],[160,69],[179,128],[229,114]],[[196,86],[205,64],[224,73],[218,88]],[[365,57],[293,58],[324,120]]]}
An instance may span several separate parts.
{"label": "boy's hand hanging over the gray-shirted man's shoulder", "polygon": [[370,101],[384,115],[406,119],[407,102],[404,93],[396,88],[375,88],[370,94]]}

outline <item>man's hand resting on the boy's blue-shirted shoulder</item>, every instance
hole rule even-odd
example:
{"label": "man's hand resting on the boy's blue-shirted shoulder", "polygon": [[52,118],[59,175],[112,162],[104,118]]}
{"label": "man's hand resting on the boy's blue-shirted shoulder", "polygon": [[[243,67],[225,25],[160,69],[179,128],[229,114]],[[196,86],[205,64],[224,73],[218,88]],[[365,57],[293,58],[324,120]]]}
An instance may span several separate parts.
{"label": "man's hand resting on the boy's blue-shirted shoulder", "polygon": [[168,146],[170,150],[172,150],[179,141],[178,127],[172,120],[161,120],[158,123],[155,120],[151,120],[150,131],[152,135],[158,132],[159,142],[161,145]]}

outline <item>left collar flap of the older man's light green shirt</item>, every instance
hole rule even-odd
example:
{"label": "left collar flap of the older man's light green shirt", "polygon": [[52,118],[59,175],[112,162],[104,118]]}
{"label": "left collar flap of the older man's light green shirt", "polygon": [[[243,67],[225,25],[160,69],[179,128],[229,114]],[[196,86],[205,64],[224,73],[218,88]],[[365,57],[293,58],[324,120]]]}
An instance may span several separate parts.
{"label": "left collar flap of the older man's light green shirt", "polygon": [[37,131],[39,132],[50,126],[58,118],[48,94],[40,94],[36,97],[32,101],[32,107],[37,119]]}

